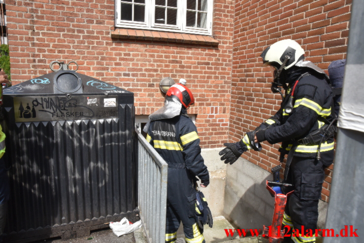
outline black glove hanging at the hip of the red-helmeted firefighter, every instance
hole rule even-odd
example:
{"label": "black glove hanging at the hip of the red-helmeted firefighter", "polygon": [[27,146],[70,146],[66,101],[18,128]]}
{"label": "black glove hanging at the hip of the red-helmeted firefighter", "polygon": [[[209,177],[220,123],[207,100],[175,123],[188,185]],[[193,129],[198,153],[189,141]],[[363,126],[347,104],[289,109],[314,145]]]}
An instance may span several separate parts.
{"label": "black glove hanging at the hip of the red-helmeted firefighter", "polygon": [[212,228],[213,220],[210,208],[207,206],[207,201],[202,192],[196,193],[196,212],[195,218],[199,225],[200,231],[203,232],[203,225],[208,224]]}

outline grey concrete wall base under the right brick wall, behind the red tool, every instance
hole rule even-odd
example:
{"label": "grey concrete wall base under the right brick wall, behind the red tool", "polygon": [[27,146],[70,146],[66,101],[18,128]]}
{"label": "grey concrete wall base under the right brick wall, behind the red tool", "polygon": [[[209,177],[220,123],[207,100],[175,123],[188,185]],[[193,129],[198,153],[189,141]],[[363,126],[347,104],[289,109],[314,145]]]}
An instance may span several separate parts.
{"label": "grey concrete wall base under the right brick wall, behind the red tool", "polygon": [[[262,229],[271,225],[274,198],[265,189],[272,174],[239,158],[226,170],[223,215],[240,229]],[[325,226],[328,204],[320,200],[318,227]]]}

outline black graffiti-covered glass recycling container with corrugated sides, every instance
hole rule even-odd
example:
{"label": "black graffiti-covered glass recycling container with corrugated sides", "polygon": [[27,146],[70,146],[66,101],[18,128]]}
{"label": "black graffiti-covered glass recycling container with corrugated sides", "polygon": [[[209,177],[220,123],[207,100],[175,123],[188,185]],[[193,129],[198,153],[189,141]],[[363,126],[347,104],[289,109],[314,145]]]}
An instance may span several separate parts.
{"label": "black graffiti-covered glass recycling container with corrugated sides", "polygon": [[3,91],[5,242],[66,240],[138,220],[133,93],[59,65]]}

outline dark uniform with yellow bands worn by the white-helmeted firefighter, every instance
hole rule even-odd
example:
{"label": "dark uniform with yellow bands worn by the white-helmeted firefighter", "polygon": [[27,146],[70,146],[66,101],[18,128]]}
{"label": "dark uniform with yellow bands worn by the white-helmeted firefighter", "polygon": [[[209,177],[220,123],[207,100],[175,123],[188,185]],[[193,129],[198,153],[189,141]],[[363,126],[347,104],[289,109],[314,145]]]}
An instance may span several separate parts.
{"label": "dark uniform with yellow bands worn by the white-helmeted firefighter", "polygon": [[[299,145],[297,141],[324,124],[330,123],[333,119],[331,112],[334,111],[331,110],[331,87],[322,74],[302,69],[287,80],[287,83],[293,84],[305,72],[310,75],[302,77],[297,84],[293,112],[287,114],[284,110],[288,102],[288,94],[291,92],[291,89],[288,89],[278,112],[260,125],[261,129],[268,126],[271,128],[259,131],[256,135],[259,141],[267,140],[272,144],[282,142],[279,149],[281,156],[288,154],[291,148],[296,148],[287,176],[287,182],[294,184],[294,193],[289,197],[283,224],[299,230],[301,226],[305,230],[314,230],[317,227],[318,202],[325,176],[324,168],[331,165],[333,161],[334,141],[331,138],[322,143],[320,160],[316,159],[318,145]],[[315,242],[315,237],[292,237],[291,239],[297,243]]]}

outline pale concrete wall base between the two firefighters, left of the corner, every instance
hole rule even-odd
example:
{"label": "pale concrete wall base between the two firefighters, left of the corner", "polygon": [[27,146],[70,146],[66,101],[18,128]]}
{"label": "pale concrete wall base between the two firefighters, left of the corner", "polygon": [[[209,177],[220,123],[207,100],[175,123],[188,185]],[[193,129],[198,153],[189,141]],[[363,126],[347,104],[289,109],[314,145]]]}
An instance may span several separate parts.
{"label": "pale concrete wall base between the two firefighters, left of the corner", "polygon": [[210,173],[210,184],[206,188],[201,188],[205,195],[208,206],[213,217],[223,215],[224,194],[226,181],[226,165],[220,160],[219,152],[223,148],[202,149],[201,155]]}

